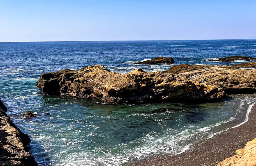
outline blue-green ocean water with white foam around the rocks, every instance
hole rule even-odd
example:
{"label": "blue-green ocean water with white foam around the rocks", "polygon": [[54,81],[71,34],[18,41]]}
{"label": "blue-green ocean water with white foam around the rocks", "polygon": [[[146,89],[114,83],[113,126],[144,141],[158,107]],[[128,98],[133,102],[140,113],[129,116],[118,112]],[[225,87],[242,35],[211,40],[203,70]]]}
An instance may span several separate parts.
{"label": "blue-green ocean water with white foam around the rocks", "polygon": [[[39,165],[121,165],[154,155],[177,154],[244,121],[255,95],[216,103],[107,105],[98,100],[43,96],[40,74],[102,64],[113,72],[153,72],[176,64],[222,64],[208,59],[256,57],[256,40],[70,41],[0,43],[0,99],[27,133]],[[175,64],[134,65],[153,57]],[[30,110],[37,117],[23,119]]]}

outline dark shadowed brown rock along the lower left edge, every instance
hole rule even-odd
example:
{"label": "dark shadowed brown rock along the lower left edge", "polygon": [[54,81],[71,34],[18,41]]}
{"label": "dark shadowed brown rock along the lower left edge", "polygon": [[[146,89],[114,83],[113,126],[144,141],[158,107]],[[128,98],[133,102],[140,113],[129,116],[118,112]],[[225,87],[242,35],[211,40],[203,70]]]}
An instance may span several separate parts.
{"label": "dark shadowed brown rock along the lower left edge", "polygon": [[25,145],[30,143],[28,135],[11,122],[6,111],[0,101],[0,165],[37,166],[34,157],[25,149]]}

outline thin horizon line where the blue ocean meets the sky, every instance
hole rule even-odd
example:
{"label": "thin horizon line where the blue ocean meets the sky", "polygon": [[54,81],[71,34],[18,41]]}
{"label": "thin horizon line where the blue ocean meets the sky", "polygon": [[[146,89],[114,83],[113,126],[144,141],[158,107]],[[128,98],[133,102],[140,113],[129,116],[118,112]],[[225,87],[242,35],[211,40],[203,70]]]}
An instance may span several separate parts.
{"label": "thin horizon line where the blue ocean meets the sky", "polygon": [[[81,41],[200,41],[200,40],[249,40],[256,38],[241,39],[187,39],[187,40],[81,40]],[[80,40],[78,40],[80,41]],[[76,41],[0,41],[0,43],[18,43],[18,42],[76,42]]]}

